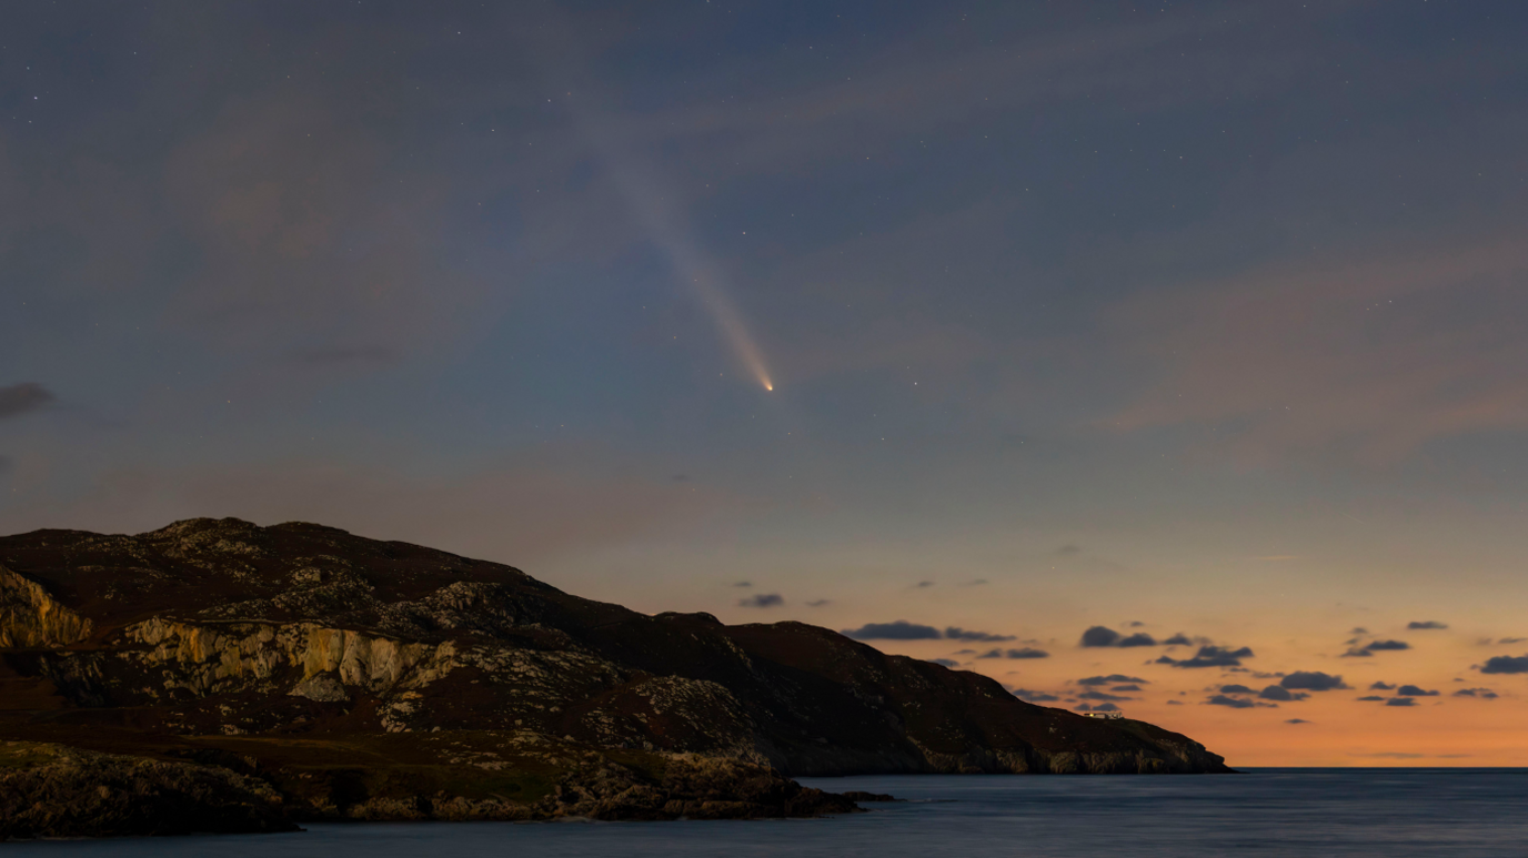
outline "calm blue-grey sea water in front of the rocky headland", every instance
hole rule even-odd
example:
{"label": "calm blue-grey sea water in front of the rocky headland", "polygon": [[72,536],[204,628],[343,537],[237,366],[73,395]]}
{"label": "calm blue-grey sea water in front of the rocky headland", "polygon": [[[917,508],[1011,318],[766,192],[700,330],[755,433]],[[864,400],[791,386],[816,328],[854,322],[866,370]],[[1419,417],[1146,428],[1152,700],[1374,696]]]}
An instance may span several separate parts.
{"label": "calm blue-grey sea water in front of the rocky headland", "polygon": [[813,779],[909,798],[756,823],[327,824],[306,834],[3,844],[11,855],[1528,856],[1528,769],[1258,769],[1244,776]]}

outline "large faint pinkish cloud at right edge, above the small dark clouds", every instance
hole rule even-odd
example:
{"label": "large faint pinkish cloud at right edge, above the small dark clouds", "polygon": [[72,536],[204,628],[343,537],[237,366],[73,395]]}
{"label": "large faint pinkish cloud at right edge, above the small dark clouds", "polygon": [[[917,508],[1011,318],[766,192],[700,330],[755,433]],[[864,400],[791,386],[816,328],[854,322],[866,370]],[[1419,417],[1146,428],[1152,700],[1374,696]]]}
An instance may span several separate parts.
{"label": "large faint pinkish cloud at right edge, above the small dark clouds", "polygon": [[1115,334],[1157,373],[1108,424],[1216,426],[1244,461],[1361,467],[1528,429],[1528,377],[1513,369],[1528,366],[1525,267],[1510,235],[1132,296],[1114,307]]}

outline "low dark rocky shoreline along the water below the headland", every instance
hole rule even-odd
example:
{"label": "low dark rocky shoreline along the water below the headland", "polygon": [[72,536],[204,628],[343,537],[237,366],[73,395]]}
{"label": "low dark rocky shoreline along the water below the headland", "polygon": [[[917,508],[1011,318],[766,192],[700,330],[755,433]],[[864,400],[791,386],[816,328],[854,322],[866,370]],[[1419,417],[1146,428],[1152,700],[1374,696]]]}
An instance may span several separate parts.
{"label": "low dark rocky shoreline along the water below the headland", "polygon": [[457,789],[417,792],[419,785],[402,780],[376,789],[387,779],[365,768],[313,779],[312,771],[269,768],[252,756],[229,768],[5,742],[0,840],[274,834],[310,821],[759,820],[850,814],[859,811],[854,798],[891,800],[805,788],[730,759],[675,754],[622,763],[596,751],[544,748],[555,748],[542,762],[561,766],[561,774],[541,794],[509,797],[490,789],[495,779],[474,779],[495,769],[472,763]]}

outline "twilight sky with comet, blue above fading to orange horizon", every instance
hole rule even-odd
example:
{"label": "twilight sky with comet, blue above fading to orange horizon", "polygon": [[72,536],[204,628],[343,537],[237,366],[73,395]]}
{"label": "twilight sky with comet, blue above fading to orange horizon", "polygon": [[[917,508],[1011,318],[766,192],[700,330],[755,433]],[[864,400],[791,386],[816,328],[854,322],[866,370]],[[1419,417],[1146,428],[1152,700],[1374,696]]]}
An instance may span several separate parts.
{"label": "twilight sky with comet, blue above fading to orange horizon", "polygon": [[1232,765],[1528,765],[1525,38],[15,6],[0,533],[318,521]]}

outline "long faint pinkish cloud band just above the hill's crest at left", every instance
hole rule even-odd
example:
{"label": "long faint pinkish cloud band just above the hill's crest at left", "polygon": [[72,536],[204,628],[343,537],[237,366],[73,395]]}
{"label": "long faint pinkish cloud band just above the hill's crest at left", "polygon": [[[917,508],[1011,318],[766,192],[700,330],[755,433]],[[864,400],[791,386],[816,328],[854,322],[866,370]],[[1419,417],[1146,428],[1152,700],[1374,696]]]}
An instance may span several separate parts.
{"label": "long faint pinkish cloud band just above the hill's crest at left", "polygon": [[735,495],[674,485],[643,470],[597,446],[556,443],[443,476],[333,456],[115,469],[104,472],[96,492],[17,508],[6,525],[24,531],[69,522],[79,530],[141,533],[196,516],[307,521],[533,573],[568,553],[688,536],[743,508]]}

